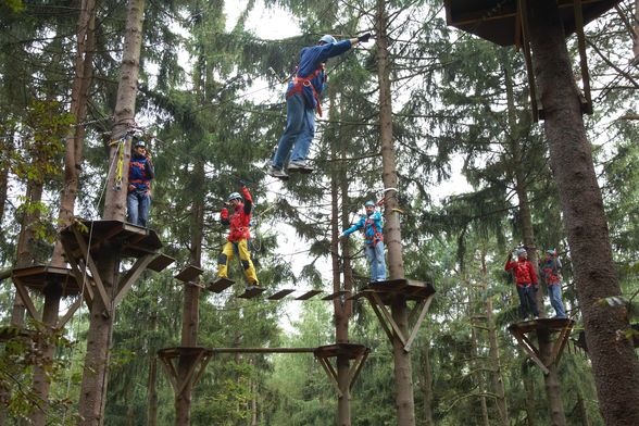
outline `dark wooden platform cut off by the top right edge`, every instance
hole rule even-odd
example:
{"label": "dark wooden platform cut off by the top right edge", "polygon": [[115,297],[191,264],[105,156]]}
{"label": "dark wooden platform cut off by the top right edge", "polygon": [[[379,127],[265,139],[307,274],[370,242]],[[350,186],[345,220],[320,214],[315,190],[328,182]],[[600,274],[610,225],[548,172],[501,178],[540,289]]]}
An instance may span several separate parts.
{"label": "dark wooden platform cut off by the top right edge", "polygon": [[[528,0],[535,1],[535,0]],[[619,0],[581,0],[584,25],[601,16]],[[576,29],[574,0],[557,0],[566,36]],[[517,0],[444,0],[446,21],[466,33],[500,46],[521,45]]]}

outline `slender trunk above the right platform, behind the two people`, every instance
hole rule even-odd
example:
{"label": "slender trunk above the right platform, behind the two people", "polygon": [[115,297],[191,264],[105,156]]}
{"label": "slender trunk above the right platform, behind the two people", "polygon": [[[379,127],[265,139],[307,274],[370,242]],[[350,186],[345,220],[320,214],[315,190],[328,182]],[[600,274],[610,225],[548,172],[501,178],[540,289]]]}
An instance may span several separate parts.
{"label": "slender trunk above the right platform, behind the two people", "polygon": [[[506,59],[508,61],[508,59]],[[522,239],[528,252],[528,260],[538,271],[538,254],[537,246],[535,243],[535,230],[532,229],[532,213],[530,212],[530,201],[528,199],[528,179],[529,172],[526,166],[525,155],[522,153],[522,140],[529,134],[530,123],[517,123],[517,111],[515,109],[515,95],[513,91],[513,78],[510,66],[504,68],[504,82],[506,89],[506,104],[509,109],[509,127],[510,127],[510,148],[512,152],[512,162],[514,164],[515,191],[519,200],[519,224],[522,226]],[[539,274],[537,274],[539,275]],[[537,291],[536,295],[537,306],[539,309],[539,317],[546,317],[546,310],[543,309],[543,292]],[[532,313],[530,313],[532,314]]]}

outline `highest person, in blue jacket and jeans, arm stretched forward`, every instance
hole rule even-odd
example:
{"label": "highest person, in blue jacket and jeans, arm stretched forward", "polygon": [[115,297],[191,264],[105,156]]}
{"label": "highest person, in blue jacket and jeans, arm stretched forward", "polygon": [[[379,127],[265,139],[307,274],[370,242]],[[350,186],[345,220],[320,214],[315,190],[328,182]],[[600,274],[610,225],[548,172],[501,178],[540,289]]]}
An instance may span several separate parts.
{"label": "highest person, in blue jacket and jeans, arm stretched forward", "polygon": [[315,135],[315,110],[322,116],[320,96],[326,83],[324,64],[329,58],[342,54],[369,38],[371,34],[367,33],[358,38],[337,41],[335,37],[326,35],[317,40],[316,46],[301,50],[295,77],[286,91],[286,129],[271,162],[271,176],[286,179],[288,175],[284,168],[289,158],[288,172],[313,171],[306,156]]}

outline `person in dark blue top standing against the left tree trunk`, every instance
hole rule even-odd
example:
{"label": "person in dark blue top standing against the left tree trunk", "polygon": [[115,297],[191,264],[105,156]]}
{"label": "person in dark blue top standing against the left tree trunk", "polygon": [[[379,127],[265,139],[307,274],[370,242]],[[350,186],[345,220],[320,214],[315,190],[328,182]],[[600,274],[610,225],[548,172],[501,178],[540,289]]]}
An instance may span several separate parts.
{"label": "person in dark blue top standing against the left tree trunk", "polygon": [[137,139],[128,163],[127,222],[147,227],[151,208],[151,179],[155,177],[151,154],[143,140]]}

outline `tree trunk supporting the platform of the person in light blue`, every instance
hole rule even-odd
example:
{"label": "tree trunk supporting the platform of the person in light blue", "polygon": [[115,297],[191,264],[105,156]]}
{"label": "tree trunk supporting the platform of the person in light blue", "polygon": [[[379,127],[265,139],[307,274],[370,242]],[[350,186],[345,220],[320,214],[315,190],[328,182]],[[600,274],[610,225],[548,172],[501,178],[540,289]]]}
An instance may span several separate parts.
{"label": "tree trunk supporting the platform of the person in light blue", "polygon": [[[388,53],[388,15],[385,2],[377,0],[375,33],[377,36],[377,76],[379,79],[379,131],[384,187],[397,188],[398,176],[392,140],[392,104],[390,93],[390,60]],[[404,277],[402,237],[397,210],[397,190],[385,192],[384,240],[388,248],[388,266],[391,279]],[[398,295],[391,303],[392,318],[404,336],[408,336],[409,321],[406,299]],[[415,401],[413,398],[413,366],[411,354],[404,351],[402,341],[393,338],[394,386],[398,426],[415,425]]]}

